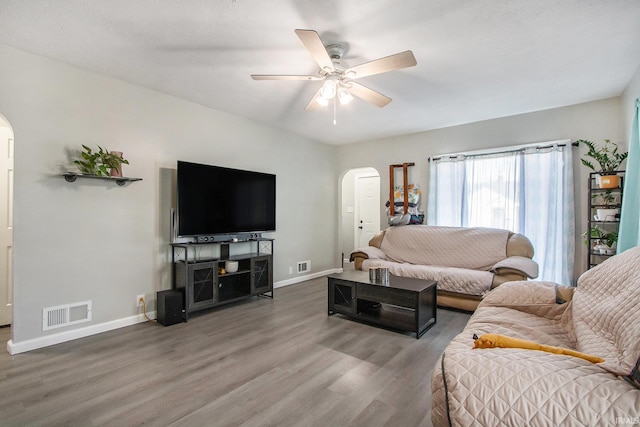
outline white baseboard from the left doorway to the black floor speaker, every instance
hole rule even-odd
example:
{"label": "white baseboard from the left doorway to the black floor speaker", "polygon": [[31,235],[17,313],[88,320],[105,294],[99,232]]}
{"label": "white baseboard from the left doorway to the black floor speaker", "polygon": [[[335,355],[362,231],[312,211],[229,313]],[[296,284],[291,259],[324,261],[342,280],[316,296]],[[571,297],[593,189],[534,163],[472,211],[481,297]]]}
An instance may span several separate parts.
{"label": "white baseboard from the left doorway to the black floor speaker", "polygon": [[[147,315],[155,319],[156,312],[152,311]],[[138,323],[147,322],[148,320],[143,314],[125,317],[123,319],[112,320],[110,322],[100,323],[98,325],[86,326],[84,328],[72,329],[70,331],[58,332],[56,334],[38,337],[26,341],[14,343],[13,340],[7,341],[7,352],[10,355],[24,353],[26,351],[36,350],[38,348],[49,347],[63,342],[77,340],[78,338],[88,337],[90,335],[100,334],[102,332],[112,331],[114,329],[124,328]]]}

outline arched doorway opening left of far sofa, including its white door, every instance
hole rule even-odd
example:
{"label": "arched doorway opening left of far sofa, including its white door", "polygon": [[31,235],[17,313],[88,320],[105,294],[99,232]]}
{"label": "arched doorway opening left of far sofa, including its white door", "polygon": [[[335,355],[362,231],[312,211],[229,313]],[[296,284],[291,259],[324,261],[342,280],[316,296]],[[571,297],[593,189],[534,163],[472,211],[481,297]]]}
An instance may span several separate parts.
{"label": "arched doorway opening left of far sofa, including its white door", "polygon": [[340,247],[348,262],[355,248],[367,246],[380,231],[380,174],[374,168],[351,169],[341,190]]}

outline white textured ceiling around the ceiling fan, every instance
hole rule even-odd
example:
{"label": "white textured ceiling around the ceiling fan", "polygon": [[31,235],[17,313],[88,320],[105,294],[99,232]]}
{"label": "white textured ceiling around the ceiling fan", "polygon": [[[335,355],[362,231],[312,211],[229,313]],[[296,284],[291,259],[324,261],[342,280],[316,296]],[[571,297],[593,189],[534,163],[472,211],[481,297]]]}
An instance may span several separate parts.
{"label": "white textured ceiling around the ceiling fan", "polygon": [[[638,0],[1,0],[0,43],[345,144],[618,96],[640,65]],[[348,66],[418,65],[359,82],[393,99],[305,112],[321,82],[294,33]]]}

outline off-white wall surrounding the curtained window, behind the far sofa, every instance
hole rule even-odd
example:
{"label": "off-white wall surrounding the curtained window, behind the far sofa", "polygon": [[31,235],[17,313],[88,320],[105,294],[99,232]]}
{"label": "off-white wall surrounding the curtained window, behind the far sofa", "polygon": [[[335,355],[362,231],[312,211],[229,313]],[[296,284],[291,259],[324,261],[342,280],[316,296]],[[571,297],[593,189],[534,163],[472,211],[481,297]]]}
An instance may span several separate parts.
{"label": "off-white wall surrounding the curtained window, behind the far sofa", "polygon": [[[415,162],[409,169],[409,181],[419,182],[423,190],[426,212],[428,188],[428,158],[438,154],[497,148],[509,145],[553,141],[559,139],[589,139],[624,141],[619,98],[589,102],[529,114],[505,117],[467,125],[437,129],[412,135],[368,141],[338,148],[338,173],[372,166],[380,173],[381,189],[389,187],[388,167],[393,163]],[[366,148],[365,148],[366,146]],[[586,193],[588,171],[574,149],[574,180],[576,183],[576,262],[577,277],[586,268],[586,251],[580,234],[586,230]],[[582,149],[580,150],[582,151]],[[381,221],[386,216],[381,207]],[[386,224],[381,224],[382,228]]]}

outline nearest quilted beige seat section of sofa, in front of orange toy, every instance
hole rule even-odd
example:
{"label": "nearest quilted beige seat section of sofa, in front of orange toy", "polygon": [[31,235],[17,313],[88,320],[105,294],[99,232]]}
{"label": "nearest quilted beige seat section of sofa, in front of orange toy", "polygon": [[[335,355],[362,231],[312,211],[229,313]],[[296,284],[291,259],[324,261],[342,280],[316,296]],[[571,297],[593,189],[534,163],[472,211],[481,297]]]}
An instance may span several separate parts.
{"label": "nearest quilted beige seat section of sofa, in front of orange toy", "polygon": [[600,365],[541,351],[472,350],[472,345],[471,336],[454,340],[434,367],[434,426],[604,426],[640,410],[640,390]]}

